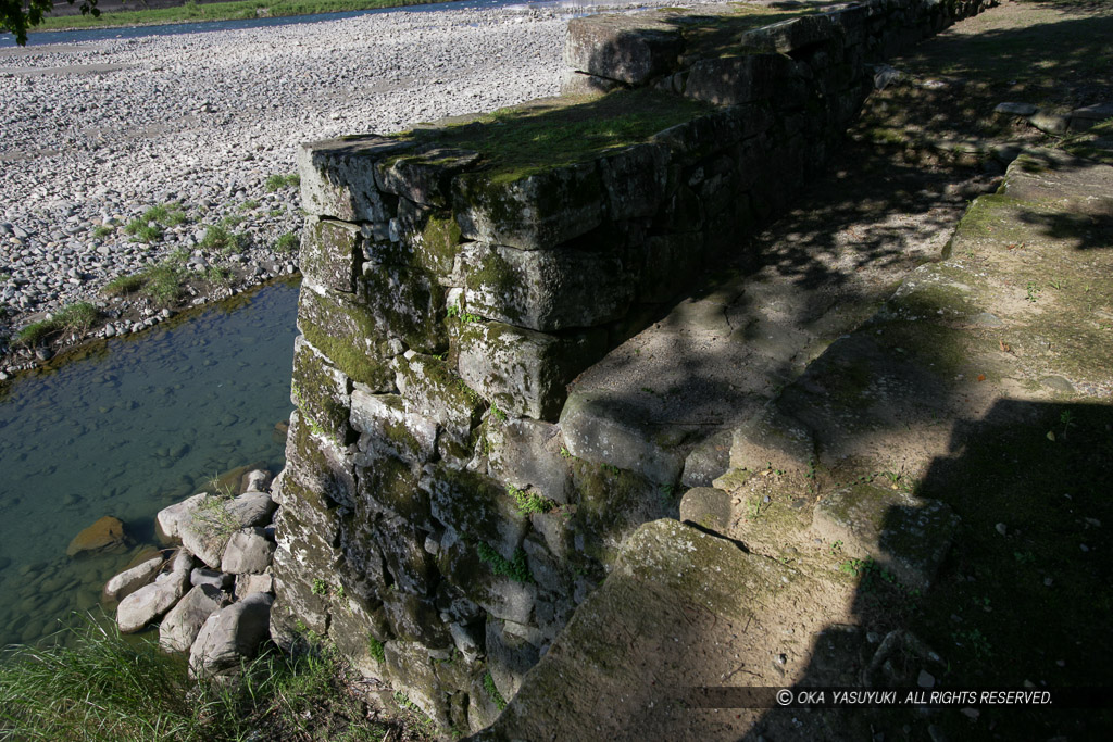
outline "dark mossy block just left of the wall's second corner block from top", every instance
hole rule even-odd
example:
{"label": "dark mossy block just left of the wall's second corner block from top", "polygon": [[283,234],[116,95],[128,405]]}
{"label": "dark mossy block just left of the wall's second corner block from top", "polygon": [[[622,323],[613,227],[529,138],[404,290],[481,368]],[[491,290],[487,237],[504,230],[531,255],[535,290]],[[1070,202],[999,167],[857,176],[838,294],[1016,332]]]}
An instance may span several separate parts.
{"label": "dark mossy block just left of the wall's second corner block from top", "polygon": [[424,270],[366,264],[359,280],[359,298],[367,308],[370,326],[380,338],[402,340],[406,347],[422,353],[447,347],[441,321],[444,289]]}

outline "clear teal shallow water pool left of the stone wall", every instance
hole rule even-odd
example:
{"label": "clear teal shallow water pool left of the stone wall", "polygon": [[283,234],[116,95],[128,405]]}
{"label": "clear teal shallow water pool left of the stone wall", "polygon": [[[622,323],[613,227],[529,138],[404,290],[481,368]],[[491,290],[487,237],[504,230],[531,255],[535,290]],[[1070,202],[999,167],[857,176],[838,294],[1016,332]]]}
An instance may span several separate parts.
{"label": "clear teal shallow water pool left of the stone wall", "polygon": [[[98,603],[154,516],[228,469],[276,473],[289,417],[296,284],[276,284],[174,327],[23,378],[0,399],[0,644],[30,642]],[[69,558],[115,515],[135,548]]]}

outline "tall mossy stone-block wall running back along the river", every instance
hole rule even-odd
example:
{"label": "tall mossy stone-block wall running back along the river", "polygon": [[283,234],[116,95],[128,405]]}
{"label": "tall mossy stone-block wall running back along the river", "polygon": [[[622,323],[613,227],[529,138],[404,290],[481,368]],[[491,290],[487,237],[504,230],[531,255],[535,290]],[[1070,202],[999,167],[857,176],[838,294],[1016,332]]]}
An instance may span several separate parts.
{"label": "tall mossy stone-block wall running back along the river", "polygon": [[[868,61],[988,4],[578,19],[564,99],[303,146],[276,640],[487,725],[624,535],[676,515],[678,482],[574,455],[565,385],[788,205]],[[538,121],[604,145],[516,161]]]}

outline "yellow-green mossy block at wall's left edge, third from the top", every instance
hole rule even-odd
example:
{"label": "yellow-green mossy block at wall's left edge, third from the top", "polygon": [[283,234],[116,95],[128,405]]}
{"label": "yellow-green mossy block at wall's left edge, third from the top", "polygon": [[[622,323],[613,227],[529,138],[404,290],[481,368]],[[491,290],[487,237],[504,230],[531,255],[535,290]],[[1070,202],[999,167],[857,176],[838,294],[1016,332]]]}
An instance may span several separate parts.
{"label": "yellow-green mossy block at wall's left edge, third from the top", "polygon": [[388,362],[395,348],[375,315],[349,296],[303,286],[297,328],[313,347],[354,382],[375,392],[394,387]]}

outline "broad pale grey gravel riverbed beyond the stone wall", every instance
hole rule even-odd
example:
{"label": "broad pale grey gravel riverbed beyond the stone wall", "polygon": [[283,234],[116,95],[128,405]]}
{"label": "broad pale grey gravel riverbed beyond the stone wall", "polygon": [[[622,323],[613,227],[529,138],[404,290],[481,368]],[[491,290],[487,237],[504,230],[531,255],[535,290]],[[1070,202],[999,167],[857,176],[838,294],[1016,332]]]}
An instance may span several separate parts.
{"label": "broad pale grey gravel riverbed beyond the stone wall", "polygon": [[[294,273],[297,188],[274,176],[294,172],[298,142],[555,95],[583,12],[402,10],[0,50],[0,346],[75,301],[98,305],[110,335],[160,321],[169,313],[101,289],[167,259],[218,279],[186,304]],[[8,348],[0,374],[33,363]]]}

